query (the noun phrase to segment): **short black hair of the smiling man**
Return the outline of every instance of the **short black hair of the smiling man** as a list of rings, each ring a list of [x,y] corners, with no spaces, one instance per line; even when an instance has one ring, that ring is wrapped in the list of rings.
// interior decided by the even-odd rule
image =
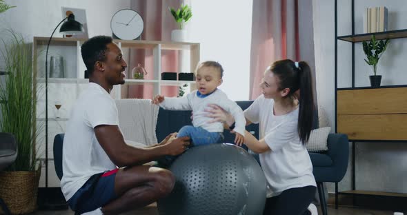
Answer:
[[[106,61],[106,50],[108,50],[108,44],[112,42],[112,37],[96,36],[81,45],[83,63],[89,75],[95,70],[96,61]]]

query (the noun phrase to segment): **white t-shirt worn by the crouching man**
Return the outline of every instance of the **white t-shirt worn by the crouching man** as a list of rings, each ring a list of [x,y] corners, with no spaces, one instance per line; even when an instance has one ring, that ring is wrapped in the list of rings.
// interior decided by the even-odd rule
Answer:
[[[67,200],[90,176],[116,168],[96,139],[97,125],[119,125],[117,107],[106,90],[89,83],[72,107],[63,139],[61,189]]]

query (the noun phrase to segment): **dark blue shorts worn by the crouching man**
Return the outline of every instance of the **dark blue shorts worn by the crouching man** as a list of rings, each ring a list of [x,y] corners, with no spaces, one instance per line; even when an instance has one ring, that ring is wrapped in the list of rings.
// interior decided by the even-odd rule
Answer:
[[[117,198],[115,176],[119,169],[94,174],[68,200],[70,208],[78,214],[91,212]]]

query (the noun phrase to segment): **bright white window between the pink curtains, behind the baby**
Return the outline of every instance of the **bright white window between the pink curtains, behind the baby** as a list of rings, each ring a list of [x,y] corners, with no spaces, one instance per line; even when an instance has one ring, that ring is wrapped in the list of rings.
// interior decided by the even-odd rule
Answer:
[[[189,41],[201,43],[201,61],[218,61],[233,101],[249,99],[252,1],[192,1]],[[230,10],[230,9],[233,10]]]

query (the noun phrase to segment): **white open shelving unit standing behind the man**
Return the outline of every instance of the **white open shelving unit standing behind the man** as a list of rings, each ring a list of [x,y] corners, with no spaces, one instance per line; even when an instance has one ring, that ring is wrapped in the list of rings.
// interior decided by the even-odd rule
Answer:
[[[48,65],[48,101],[45,99],[45,55],[48,44],[48,37],[34,37],[33,39],[33,76],[34,79],[34,94],[37,95],[37,147],[38,158],[45,161],[45,121],[48,121],[48,187],[59,187],[59,179],[54,172],[53,161],[53,140],[54,136],[65,132],[66,122],[70,114],[72,104],[75,102],[79,94],[87,88],[89,79],[84,79],[84,71],[86,66],[81,57],[81,45],[85,39],[75,38],[53,38],[48,51],[48,63],[50,57],[63,57],[63,68],[65,71],[64,78],[55,78],[49,76],[50,65]],[[189,53],[190,72],[195,70],[199,63],[199,43],[176,43],[170,41],[123,41],[114,40],[115,43],[123,50],[126,59],[126,54],[132,49],[152,50],[153,61],[153,78],[152,79],[128,79],[124,85],[115,85],[110,93],[113,99],[126,99],[125,88],[130,85],[152,85],[152,94],[161,94],[161,88],[164,86],[181,86],[188,83],[187,90],[195,90],[195,81],[168,81],[161,80],[161,54],[166,50],[186,50]],[[128,64],[130,63],[126,59]],[[128,68],[128,74],[132,68]],[[176,71],[174,71],[176,72]],[[139,98],[142,99],[142,98]],[[146,98],[150,99],[150,98]],[[56,102],[61,103],[61,109],[57,110]],[[48,104],[48,119],[45,117],[45,105]],[[58,116],[56,114],[58,112]],[[43,168],[45,165],[42,166]],[[45,170],[41,171],[41,179],[39,187],[45,186]]]

